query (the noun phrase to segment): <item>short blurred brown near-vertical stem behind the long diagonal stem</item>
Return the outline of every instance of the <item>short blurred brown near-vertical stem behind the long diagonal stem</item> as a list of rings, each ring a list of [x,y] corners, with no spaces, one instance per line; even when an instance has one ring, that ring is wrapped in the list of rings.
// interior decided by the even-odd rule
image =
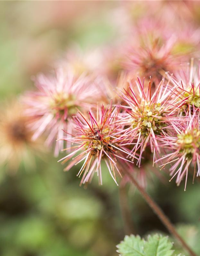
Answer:
[[[119,186],[119,199],[122,219],[124,222],[124,232],[127,235],[135,234],[135,229],[131,218],[131,212],[128,205],[126,186],[124,184],[120,184]]]

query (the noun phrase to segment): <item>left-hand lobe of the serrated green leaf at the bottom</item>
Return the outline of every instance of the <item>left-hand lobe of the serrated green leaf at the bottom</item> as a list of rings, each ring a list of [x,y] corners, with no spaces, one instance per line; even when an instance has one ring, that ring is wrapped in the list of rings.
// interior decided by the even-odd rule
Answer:
[[[145,256],[145,241],[140,236],[125,236],[124,241],[118,244],[118,252],[120,256]]]

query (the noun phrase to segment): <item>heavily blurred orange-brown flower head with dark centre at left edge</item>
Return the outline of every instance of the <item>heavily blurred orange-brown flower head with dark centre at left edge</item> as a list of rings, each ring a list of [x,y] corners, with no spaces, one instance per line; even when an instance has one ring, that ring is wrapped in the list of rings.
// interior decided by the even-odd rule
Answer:
[[[32,141],[32,131],[28,128],[29,118],[24,116],[24,106],[17,101],[1,106],[0,114],[0,164],[16,172],[21,162],[30,168],[34,166],[34,155],[44,152],[41,140]]]

